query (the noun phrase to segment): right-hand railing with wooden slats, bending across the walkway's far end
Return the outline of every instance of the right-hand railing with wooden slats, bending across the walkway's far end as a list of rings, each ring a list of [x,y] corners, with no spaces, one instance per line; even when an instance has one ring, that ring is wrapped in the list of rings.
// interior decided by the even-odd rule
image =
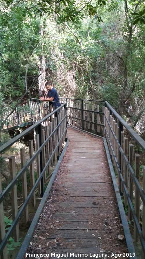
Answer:
[[[145,258],[145,166],[137,152],[145,157],[145,141],[106,101],[67,98],[67,115],[69,125],[106,137],[134,241],[140,240]]]

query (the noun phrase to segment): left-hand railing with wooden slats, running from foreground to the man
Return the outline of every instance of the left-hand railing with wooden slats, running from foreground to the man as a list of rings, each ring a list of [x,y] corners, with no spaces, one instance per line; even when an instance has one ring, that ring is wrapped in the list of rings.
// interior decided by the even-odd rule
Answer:
[[[2,187],[2,181],[0,177],[0,254],[1,258],[3,259],[8,258],[6,245],[7,243],[10,243],[10,237],[13,236],[15,242],[19,240],[19,225],[21,223],[21,217],[23,216],[25,223],[28,221],[28,204],[30,204],[29,201],[31,200],[32,206],[35,207],[36,192],[38,192],[39,195],[43,197],[44,184],[50,180],[50,176],[54,170],[53,167],[57,167],[57,161],[59,161],[61,147],[63,146],[64,141],[67,141],[66,117],[66,104],[64,103],[54,112],[51,112],[43,119],[34,123],[34,125],[30,126],[21,134],[0,147],[0,154],[4,155],[4,152],[7,151],[8,148],[11,147],[14,143],[22,140],[25,135],[30,135],[34,132],[35,151],[33,151],[33,140],[29,140],[29,151],[27,152],[27,159],[25,148],[20,149],[19,165],[21,170],[17,172],[17,174],[15,156],[8,158],[10,167],[10,184],[5,189]],[[28,182],[29,180],[27,179],[27,176],[29,176],[30,183]],[[23,203],[21,206],[19,206],[18,210],[17,182],[19,181],[21,181],[22,185]],[[8,195],[10,198],[8,198]],[[3,210],[3,205],[5,205],[6,199],[9,200],[9,203],[11,202],[10,213],[12,213],[12,215],[10,215],[10,218],[12,217],[12,225],[10,226],[10,229],[7,230],[7,233],[5,230],[4,216],[6,215],[8,217],[9,215],[8,212],[5,211],[4,213]],[[39,214],[40,213],[41,210],[39,209]],[[35,223],[37,224],[37,221]],[[31,227],[31,235],[33,230],[34,226]],[[30,235],[28,236],[27,243],[29,244]]]

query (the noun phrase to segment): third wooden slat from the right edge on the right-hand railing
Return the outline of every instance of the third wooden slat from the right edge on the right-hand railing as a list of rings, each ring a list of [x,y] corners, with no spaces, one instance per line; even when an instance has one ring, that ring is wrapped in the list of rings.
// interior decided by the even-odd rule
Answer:
[[[134,145],[132,144],[129,144],[129,163],[131,165],[131,167],[133,168],[133,162],[134,162]],[[129,172],[129,197],[131,199],[131,202],[133,204],[133,179],[131,177],[131,174]],[[132,220],[133,219],[133,216],[132,216],[132,213],[131,213],[131,209],[130,207],[128,206],[128,219],[129,220]]]

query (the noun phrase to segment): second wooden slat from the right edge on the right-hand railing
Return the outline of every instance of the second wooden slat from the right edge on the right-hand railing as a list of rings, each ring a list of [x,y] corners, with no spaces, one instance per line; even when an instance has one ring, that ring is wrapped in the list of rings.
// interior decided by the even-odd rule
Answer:
[[[137,177],[137,180],[139,181],[140,179],[140,155],[139,154],[135,154],[135,175]],[[137,188],[135,186],[135,214],[137,216],[138,222],[139,222],[139,207],[140,207],[140,194],[139,194],[139,191],[137,191]],[[135,242],[137,242],[139,239],[135,224],[134,224],[134,239],[135,239]]]

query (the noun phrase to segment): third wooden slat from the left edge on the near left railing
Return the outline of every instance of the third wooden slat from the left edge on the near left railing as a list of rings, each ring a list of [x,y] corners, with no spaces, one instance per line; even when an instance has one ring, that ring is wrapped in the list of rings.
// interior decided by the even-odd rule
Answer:
[[[25,153],[25,147],[20,148],[20,158],[21,158],[21,169],[26,164],[26,153]],[[27,175],[26,172],[22,175],[22,194],[23,194],[23,203],[27,199]],[[26,207],[24,211],[24,220],[28,221],[28,206]]]

